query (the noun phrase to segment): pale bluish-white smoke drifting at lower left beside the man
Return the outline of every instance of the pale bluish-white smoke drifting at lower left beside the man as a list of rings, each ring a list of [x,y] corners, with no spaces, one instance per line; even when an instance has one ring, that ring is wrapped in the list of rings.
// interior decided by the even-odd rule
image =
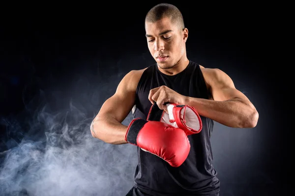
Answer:
[[[0,154],[1,196],[124,196],[131,189],[136,147],[93,138],[89,125],[99,106],[91,101],[99,92],[92,97],[91,87],[83,90],[79,82],[75,88],[79,96],[71,99],[65,91],[40,91],[30,104],[52,99],[40,109],[27,104],[22,116],[2,120],[9,149]],[[129,115],[123,124],[130,121]],[[9,134],[19,135],[20,142]]]

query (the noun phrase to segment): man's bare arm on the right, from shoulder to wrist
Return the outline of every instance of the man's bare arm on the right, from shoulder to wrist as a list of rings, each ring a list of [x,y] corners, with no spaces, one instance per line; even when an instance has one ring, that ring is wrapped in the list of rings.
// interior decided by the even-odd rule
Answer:
[[[250,100],[235,88],[232,79],[219,69],[202,69],[213,100],[185,98],[200,115],[229,127],[255,127],[259,114]]]

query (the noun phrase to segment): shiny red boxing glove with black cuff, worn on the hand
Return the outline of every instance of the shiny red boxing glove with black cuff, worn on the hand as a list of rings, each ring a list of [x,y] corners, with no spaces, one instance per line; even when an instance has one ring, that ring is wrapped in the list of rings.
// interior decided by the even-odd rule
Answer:
[[[125,141],[162,158],[172,167],[179,167],[190,150],[189,140],[182,129],[141,118],[131,121]]]

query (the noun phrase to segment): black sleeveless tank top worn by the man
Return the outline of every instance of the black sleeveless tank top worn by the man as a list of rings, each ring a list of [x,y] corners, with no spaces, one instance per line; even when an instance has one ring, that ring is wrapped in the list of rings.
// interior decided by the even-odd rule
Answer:
[[[133,118],[147,119],[151,103],[149,90],[165,85],[177,93],[208,99],[208,91],[200,66],[189,61],[188,66],[176,75],[166,75],[157,64],[149,66],[142,74],[137,90]],[[185,162],[178,168],[138,147],[138,165],[135,170],[135,187],[152,196],[190,194],[215,194],[219,192],[219,179],[212,166],[210,135],[214,122],[201,116],[203,128],[198,134],[189,135],[191,149]]]

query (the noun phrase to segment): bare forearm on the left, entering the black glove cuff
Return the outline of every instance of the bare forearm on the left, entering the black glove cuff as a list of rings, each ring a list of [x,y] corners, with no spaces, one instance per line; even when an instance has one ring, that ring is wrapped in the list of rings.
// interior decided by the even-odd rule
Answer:
[[[125,134],[128,126],[119,123],[112,117],[104,119],[94,119],[91,123],[91,134],[103,142],[109,144],[126,144]]]

